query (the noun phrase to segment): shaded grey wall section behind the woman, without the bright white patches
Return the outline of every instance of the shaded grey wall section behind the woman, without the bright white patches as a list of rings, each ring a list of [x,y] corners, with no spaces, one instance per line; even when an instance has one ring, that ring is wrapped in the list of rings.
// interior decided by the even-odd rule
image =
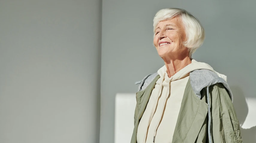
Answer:
[[[256,97],[255,4],[254,0],[103,0],[100,142],[114,142],[116,93],[135,93],[136,81],[164,65],[152,45],[153,17],[169,7],[184,8],[202,22],[206,39],[192,57],[227,76],[243,124],[248,113],[245,98]],[[255,127],[241,130],[245,143],[256,142]]]

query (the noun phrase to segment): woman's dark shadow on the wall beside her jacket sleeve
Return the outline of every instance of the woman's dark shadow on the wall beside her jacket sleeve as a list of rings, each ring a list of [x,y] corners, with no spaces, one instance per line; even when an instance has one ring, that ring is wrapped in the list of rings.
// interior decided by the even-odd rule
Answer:
[[[251,127],[249,129],[243,129],[241,127],[244,124],[249,111],[248,105],[246,103],[246,98],[243,95],[243,91],[238,86],[230,86],[230,89],[234,96],[233,104],[240,124],[240,131],[243,143],[256,142],[256,126]]]

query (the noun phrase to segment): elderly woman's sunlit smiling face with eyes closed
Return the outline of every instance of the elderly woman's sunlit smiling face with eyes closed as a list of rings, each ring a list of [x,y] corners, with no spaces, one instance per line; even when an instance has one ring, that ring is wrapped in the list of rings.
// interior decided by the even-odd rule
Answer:
[[[186,33],[182,21],[175,17],[157,24],[153,42],[159,56],[163,58],[179,55],[187,50],[182,44],[185,39]]]

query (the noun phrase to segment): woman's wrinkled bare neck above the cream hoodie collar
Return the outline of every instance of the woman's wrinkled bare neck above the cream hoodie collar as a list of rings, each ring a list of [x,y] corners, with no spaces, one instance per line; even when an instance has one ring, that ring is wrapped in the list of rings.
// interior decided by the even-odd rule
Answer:
[[[183,69],[185,66],[189,65],[191,62],[191,59],[189,56],[186,56],[184,58],[163,58],[165,66],[167,68],[167,74],[168,77],[173,76],[175,73]]]

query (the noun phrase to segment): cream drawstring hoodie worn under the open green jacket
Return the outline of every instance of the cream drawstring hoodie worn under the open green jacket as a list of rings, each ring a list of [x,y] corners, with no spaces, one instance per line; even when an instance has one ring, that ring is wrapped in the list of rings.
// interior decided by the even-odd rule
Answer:
[[[160,68],[157,73],[160,78],[152,90],[146,109],[140,120],[137,130],[137,143],[171,143],[178,114],[181,107],[184,90],[188,82],[189,73],[197,69],[213,68],[207,63],[192,63],[168,77],[166,66]],[[227,79],[223,74],[219,77]]]

